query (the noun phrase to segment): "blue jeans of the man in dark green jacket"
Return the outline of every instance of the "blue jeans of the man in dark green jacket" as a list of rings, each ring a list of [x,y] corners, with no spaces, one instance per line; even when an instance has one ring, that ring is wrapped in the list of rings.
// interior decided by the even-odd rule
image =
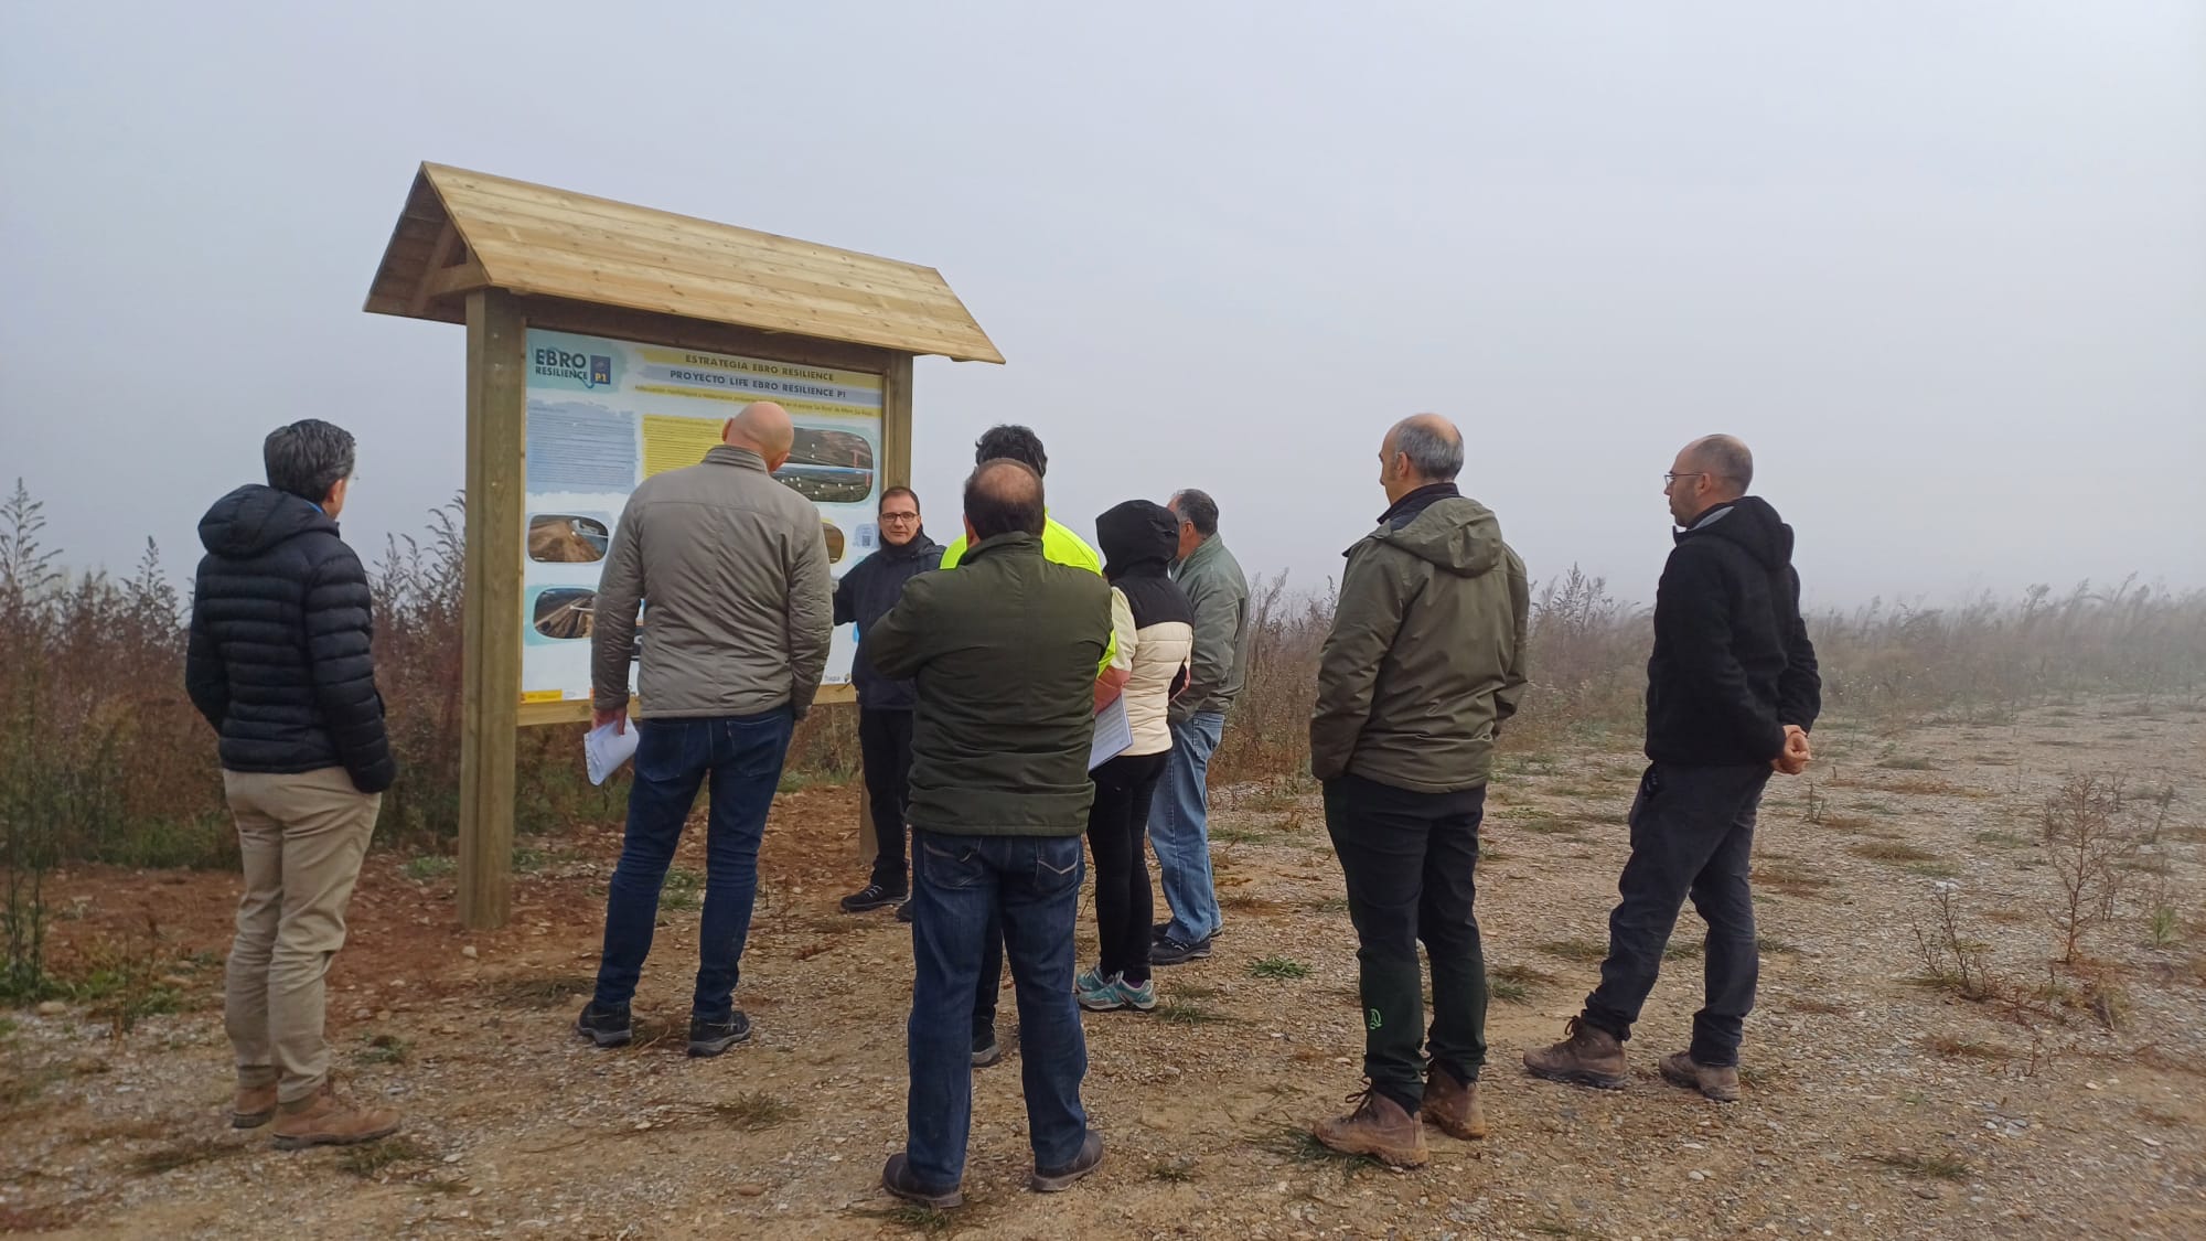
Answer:
[[[973,1128],[973,989],[1002,923],[1019,996],[1019,1071],[1037,1168],[1063,1168],[1088,1139],[1088,1040],[1072,1000],[1081,837],[911,832],[911,1095],[904,1157],[927,1188],[964,1181]]]

